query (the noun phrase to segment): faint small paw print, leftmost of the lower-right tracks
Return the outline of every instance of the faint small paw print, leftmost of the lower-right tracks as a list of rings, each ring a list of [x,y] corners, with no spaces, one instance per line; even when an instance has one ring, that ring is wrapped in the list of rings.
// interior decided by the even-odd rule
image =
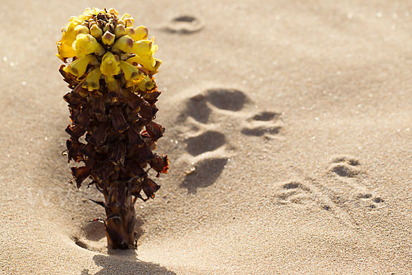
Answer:
[[[290,181],[280,186],[277,195],[280,204],[304,203],[310,201],[312,190],[299,181]]]

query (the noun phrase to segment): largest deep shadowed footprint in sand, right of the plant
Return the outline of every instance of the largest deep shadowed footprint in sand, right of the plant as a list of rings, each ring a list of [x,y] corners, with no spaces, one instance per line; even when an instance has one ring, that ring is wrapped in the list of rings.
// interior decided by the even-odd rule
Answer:
[[[225,123],[233,125],[233,131],[247,136],[279,133],[280,113],[263,111],[250,117],[242,109],[251,103],[244,92],[225,88],[206,89],[185,101],[176,122],[186,130],[185,150],[192,157],[193,167],[181,187],[196,192],[197,188],[211,186],[218,179],[233,153],[228,148],[234,148],[223,133]]]

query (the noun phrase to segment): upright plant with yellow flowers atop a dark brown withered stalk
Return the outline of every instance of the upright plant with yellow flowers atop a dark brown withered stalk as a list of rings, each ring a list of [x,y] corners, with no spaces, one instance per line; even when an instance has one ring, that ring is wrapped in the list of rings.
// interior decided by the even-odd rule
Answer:
[[[133,17],[115,9],[87,8],[71,17],[57,42],[60,74],[71,92],[71,124],[66,132],[67,156],[79,166],[71,173],[80,188],[84,179],[104,195],[95,201],[106,211],[108,245],[135,248],[135,202],[155,197],[159,185],[148,177],[153,169],[168,173],[167,155],[153,153],[165,128],[153,122],[158,111],[153,75],[161,61],[153,57],[155,39]],[[82,164],[80,164],[82,163]],[[144,192],[146,198],[141,195]]]

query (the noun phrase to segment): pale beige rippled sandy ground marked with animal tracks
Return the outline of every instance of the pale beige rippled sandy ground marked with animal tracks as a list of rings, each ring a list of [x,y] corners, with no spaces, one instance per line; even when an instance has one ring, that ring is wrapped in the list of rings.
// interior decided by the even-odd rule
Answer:
[[[411,1],[48,2],[1,5],[1,274],[412,273]],[[60,155],[55,43],[93,5],[163,60],[171,170],[135,252],[107,250]]]

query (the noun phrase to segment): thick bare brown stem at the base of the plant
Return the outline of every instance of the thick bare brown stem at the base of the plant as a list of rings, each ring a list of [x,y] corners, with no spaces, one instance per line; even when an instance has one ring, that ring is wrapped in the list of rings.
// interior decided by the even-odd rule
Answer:
[[[104,192],[107,243],[113,249],[135,248],[135,203],[124,183],[113,182]]]

